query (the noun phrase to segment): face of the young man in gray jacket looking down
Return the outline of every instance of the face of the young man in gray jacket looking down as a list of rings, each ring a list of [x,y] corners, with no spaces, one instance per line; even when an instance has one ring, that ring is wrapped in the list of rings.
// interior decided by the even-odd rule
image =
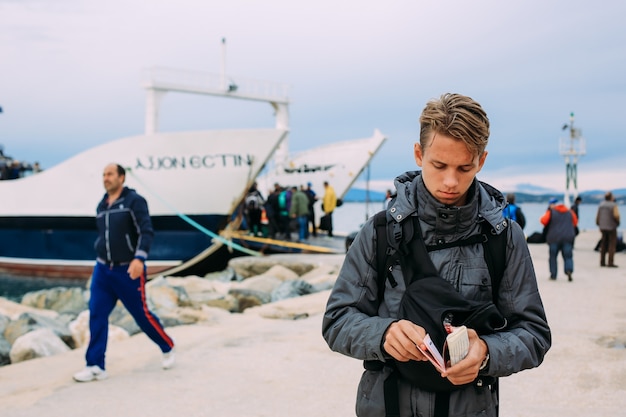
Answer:
[[[472,155],[460,140],[431,133],[429,145],[414,146],[415,162],[422,168],[422,178],[428,191],[442,204],[462,206],[467,201],[467,190],[480,172],[487,152]]]

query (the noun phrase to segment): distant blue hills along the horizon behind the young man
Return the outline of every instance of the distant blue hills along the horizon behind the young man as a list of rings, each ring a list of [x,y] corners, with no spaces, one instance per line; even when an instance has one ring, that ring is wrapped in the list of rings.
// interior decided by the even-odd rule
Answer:
[[[618,204],[626,204],[626,188],[620,188],[618,190],[612,190],[613,195],[615,196],[615,200]],[[604,200],[604,194],[606,191],[604,190],[592,190],[592,191],[583,191],[580,193],[580,197],[583,199],[584,204],[599,204]],[[503,191],[503,194],[506,195],[507,192]],[[515,202],[516,203],[548,203],[551,198],[558,198],[563,201],[563,193],[545,193],[545,194],[535,194],[535,193],[522,193],[515,192]],[[385,193],[380,191],[373,190],[365,190],[362,188],[351,188],[348,190],[346,195],[343,198],[345,202],[358,202],[362,203],[365,201],[384,201]]]

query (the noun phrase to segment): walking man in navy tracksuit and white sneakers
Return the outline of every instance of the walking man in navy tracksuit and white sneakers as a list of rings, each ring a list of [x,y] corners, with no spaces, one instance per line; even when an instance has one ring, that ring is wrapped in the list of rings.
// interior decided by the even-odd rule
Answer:
[[[109,315],[118,300],[163,352],[163,368],[174,364],[174,342],[146,303],[145,261],[154,237],[148,204],[135,190],[124,186],[125,179],[122,166],[109,164],[104,168],[106,194],[97,208],[97,261],[89,300],[91,339],[85,355],[87,366],[74,374],[78,382],[107,377],[104,357]]]

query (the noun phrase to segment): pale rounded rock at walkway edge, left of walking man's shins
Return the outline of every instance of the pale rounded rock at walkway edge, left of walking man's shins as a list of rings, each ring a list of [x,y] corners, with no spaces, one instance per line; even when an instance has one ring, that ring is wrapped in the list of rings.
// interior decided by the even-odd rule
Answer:
[[[35,329],[18,337],[11,346],[11,363],[67,352],[69,347],[47,328]]]

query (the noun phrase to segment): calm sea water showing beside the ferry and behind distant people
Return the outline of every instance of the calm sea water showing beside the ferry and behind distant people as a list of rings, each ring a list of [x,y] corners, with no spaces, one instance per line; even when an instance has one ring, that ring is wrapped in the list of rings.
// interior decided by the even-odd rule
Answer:
[[[542,226],[539,218],[545,213],[546,204],[528,203],[520,205],[526,216],[526,235],[531,235],[535,231],[541,231]],[[359,230],[361,225],[378,211],[383,209],[382,201],[370,203],[344,203],[333,213],[333,222],[336,232],[350,233]],[[597,205],[583,204],[580,206],[581,231],[598,230],[595,225]],[[622,218],[625,213],[620,207]],[[316,213],[319,220],[319,213]],[[621,230],[620,230],[621,231]],[[20,301],[22,296],[30,291],[38,291],[53,287],[84,287],[85,283],[76,280],[45,279],[45,278],[22,278],[10,277],[0,274],[0,297],[5,297],[13,301]]]

